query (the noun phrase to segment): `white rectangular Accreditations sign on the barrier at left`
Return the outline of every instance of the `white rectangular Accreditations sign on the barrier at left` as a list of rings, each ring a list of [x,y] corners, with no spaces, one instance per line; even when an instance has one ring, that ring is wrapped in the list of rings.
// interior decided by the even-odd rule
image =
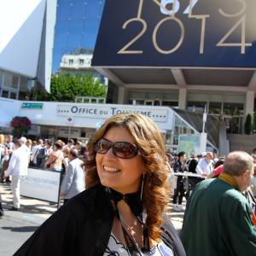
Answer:
[[[27,176],[20,180],[20,195],[58,202],[60,172],[28,168]]]

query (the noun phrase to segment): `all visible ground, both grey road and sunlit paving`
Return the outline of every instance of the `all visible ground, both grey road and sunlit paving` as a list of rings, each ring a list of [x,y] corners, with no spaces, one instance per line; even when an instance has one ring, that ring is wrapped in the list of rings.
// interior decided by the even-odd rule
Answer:
[[[12,212],[8,210],[13,201],[9,184],[0,183],[0,193],[4,208],[4,216],[0,219],[0,255],[9,256],[13,255],[23,242],[38,229],[38,226],[57,210],[57,205],[49,205],[48,201],[21,196],[20,211]],[[172,204],[168,205],[167,215],[172,219],[177,231],[182,228],[183,213],[184,211],[174,212]]]

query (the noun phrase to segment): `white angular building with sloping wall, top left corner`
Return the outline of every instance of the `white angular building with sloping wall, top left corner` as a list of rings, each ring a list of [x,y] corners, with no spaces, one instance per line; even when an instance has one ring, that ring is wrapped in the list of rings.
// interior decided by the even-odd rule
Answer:
[[[55,12],[55,0],[0,3],[0,96],[30,100],[49,90]]]

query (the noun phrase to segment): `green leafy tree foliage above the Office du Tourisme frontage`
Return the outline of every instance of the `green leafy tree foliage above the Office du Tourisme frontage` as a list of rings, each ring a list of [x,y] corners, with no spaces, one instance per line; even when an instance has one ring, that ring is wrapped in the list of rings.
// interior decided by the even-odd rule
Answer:
[[[61,73],[53,75],[50,83],[50,93],[38,93],[38,100],[49,102],[74,102],[76,96],[105,97],[107,86],[102,85],[100,79],[90,74],[70,75]]]

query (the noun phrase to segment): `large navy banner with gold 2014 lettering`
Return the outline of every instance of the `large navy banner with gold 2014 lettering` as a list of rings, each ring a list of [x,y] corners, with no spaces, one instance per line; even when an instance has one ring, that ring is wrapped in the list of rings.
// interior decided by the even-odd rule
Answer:
[[[106,0],[101,67],[256,67],[255,0]]]

